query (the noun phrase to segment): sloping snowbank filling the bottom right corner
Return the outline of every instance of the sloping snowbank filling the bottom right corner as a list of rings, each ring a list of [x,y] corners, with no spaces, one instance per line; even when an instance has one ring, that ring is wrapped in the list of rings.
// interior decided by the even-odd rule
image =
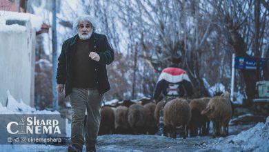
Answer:
[[[238,135],[219,138],[201,151],[269,151],[269,117]]]

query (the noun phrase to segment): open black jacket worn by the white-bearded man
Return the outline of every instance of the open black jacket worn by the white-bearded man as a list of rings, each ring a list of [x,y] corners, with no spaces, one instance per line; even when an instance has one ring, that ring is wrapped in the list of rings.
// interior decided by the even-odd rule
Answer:
[[[57,84],[65,84],[65,97],[70,95],[72,91],[72,75],[74,73],[72,61],[77,48],[78,39],[79,36],[75,35],[64,41],[61,48],[61,55],[58,58],[56,79]],[[100,94],[106,93],[110,90],[106,65],[112,63],[114,60],[114,52],[108,44],[108,39],[105,35],[92,32],[90,38],[90,52],[96,52],[100,56],[99,61],[94,61],[94,82],[96,82]]]

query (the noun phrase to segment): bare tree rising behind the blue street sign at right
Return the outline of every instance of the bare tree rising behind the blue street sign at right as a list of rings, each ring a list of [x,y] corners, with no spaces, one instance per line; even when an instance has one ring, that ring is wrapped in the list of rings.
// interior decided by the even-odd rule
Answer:
[[[225,35],[235,54],[241,57],[261,57],[268,10],[264,9],[261,12],[261,4],[257,1],[253,3],[253,1],[208,0],[208,2],[215,12],[215,15],[212,15],[213,21],[221,28],[222,34]],[[253,15],[253,12],[255,15]],[[260,17],[261,21],[259,20]],[[263,24],[261,25],[261,23]],[[246,84],[248,98],[254,98],[255,91],[253,89],[259,77],[257,77],[255,71],[251,70],[241,70],[241,75]]]

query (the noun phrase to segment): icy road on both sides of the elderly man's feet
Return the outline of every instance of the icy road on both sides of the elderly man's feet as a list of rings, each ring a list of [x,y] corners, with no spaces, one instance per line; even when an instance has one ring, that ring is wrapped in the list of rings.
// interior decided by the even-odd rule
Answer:
[[[159,135],[101,135],[97,138],[98,152],[155,152],[155,151],[195,151],[203,146],[203,141],[212,137],[195,137],[172,139]],[[0,145],[1,151],[66,151],[68,146],[51,146],[44,144]],[[83,151],[86,151],[85,146]]]

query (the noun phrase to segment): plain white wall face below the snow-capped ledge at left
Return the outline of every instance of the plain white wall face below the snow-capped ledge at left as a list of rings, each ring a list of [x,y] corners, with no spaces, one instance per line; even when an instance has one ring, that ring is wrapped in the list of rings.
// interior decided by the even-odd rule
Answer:
[[[0,31],[0,102],[6,106],[7,91],[34,106],[35,31],[30,22],[26,30]]]

